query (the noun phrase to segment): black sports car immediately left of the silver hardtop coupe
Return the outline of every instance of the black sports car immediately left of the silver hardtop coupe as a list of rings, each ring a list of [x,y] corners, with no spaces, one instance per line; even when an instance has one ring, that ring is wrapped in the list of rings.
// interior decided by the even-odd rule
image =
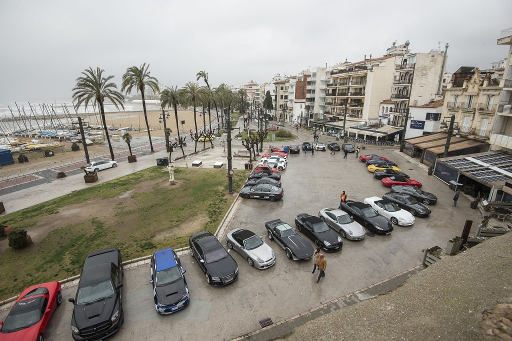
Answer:
[[[304,235],[314,241],[318,248],[333,252],[341,250],[343,247],[342,237],[339,237],[336,232],[329,228],[325,221],[316,216],[301,213],[295,218],[295,226],[297,226],[299,232],[304,233]]]

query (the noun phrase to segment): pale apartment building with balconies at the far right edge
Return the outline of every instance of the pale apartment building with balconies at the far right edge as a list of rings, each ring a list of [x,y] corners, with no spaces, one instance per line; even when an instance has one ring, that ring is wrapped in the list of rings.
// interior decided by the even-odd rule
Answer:
[[[512,28],[503,30],[498,38],[498,45],[508,45],[508,55],[500,81],[501,95],[487,109],[495,109],[496,117],[492,125],[489,142],[492,150],[512,151]],[[496,96],[496,95],[495,95]],[[494,112],[493,112],[494,113]]]

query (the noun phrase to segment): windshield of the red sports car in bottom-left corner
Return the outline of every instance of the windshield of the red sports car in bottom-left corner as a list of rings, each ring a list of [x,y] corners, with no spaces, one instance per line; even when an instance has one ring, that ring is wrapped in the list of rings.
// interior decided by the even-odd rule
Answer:
[[[5,319],[2,333],[10,333],[35,325],[42,317],[41,300],[45,297],[35,297],[32,300],[23,300],[12,308]]]

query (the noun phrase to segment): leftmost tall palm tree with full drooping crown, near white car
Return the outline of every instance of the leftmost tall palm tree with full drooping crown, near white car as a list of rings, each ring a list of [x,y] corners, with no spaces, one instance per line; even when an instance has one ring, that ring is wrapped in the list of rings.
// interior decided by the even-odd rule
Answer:
[[[103,77],[104,70],[96,68],[86,69],[82,72],[81,77],[76,79],[76,86],[73,88],[73,102],[75,103],[75,110],[78,110],[80,105],[84,103],[85,108],[91,103],[94,107],[99,106],[101,113],[101,120],[103,122],[103,129],[105,130],[106,140],[109,142],[110,156],[114,160],[114,151],[112,150],[112,143],[110,142],[109,130],[106,127],[105,119],[105,98],[110,100],[119,110],[119,106],[124,110],[124,96],[117,91],[117,86],[113,82],[109,82],[114,76]]]

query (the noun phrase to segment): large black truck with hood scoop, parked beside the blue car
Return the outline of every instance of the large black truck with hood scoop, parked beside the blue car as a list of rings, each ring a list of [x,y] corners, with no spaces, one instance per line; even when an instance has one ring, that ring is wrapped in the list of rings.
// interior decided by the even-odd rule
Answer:
[[[121,304],[121,252],[117,248],[89,253],[83,263],[73,303],[71,332],[75,340],[100,340],[116,333],[124,322]]]

